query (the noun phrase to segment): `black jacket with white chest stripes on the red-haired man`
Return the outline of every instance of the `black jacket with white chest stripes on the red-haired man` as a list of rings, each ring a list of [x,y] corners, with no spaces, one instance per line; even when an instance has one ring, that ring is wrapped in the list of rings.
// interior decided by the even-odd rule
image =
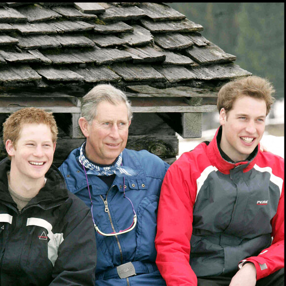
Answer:
[[[0,162],[0,286],[94,286],[96,242],[90,210],[53,165],[21,212]]]

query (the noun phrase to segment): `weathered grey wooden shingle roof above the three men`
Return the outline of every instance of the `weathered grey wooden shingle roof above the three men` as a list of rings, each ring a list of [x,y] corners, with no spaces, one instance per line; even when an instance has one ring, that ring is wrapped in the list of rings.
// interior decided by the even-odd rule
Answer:
[[[171,87],[249,74],[201,31],[163,3],[2,3],[0,86],[84,86],[111,79],[125,87],[133,81]],[[93,81],[85,69],[93,71]]]

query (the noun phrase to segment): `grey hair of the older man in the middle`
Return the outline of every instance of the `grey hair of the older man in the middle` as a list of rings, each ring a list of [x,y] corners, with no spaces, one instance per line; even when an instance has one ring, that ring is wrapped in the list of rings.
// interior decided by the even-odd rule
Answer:
[[[127,96],[119,89],[115,88],[111,84],[99,84],[91,89],[83,98],[80,107],[80,116],[84,117],[89,124],[97,115],[97,107],[103,102],[116,105],[119,103],[125,103],[128,111],[128,121],[132,119],[131,103],[127,99]]]

